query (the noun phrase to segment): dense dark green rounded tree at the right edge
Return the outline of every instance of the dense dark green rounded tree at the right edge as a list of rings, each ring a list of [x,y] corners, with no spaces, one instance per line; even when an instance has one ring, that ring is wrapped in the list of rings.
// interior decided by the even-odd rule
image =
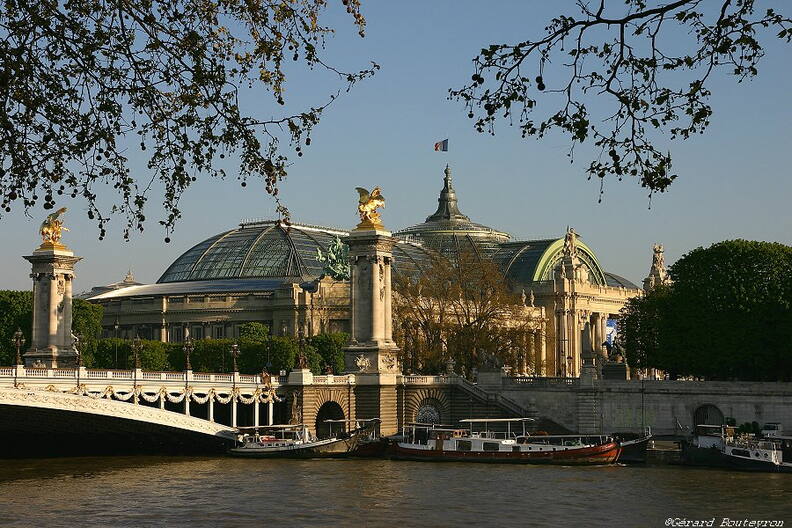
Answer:
[[[683,256],[674,283],[633,300],[627,360],[672,376],[792,379],[792,247],[731,240]]]

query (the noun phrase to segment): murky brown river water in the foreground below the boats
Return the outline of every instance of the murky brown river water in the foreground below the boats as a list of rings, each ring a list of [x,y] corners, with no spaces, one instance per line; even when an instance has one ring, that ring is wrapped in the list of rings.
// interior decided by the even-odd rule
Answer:
[[[653,527],[713,518],[714,526],[729,525],[724,518],[792,526],[792,474],[224,457],[0,461],[0,526]]]

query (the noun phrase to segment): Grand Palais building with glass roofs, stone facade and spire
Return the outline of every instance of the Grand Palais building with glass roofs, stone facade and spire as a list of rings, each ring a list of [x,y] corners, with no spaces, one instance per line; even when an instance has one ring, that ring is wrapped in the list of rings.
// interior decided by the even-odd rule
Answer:
[[[124,281],[94,288],[104,306],[104,336],[183,341],[236,338],[256,321],[275,335],[348,331],[349,281],[318,279],[327,254],[348,233],[277,220],[242,223],[190,248],[154,284]],[[432,254],[453,259],[474,251],[493,260],[539,321],[531,374],[578,376],[581,351],[611,338],[625,302],[642,290],[602,269],[573,230],[556,238],[513,240],[462,214],[445,170],[437,210],[422,223],[394,232],[395,272],[420,273]],[[396,323],[398,324],[398,323]]]

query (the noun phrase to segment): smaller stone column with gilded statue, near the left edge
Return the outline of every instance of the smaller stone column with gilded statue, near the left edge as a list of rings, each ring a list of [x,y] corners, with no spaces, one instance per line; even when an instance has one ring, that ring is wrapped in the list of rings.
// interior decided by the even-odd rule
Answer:
[[[70,368],[77,366],[72,336],[72,281],[74,265],[81,260],[61,243],[61,216],[66,208],[50,214],[41,224],[41,246],[25,260],[32,264],[33,332],[25,353],[26,367]]]

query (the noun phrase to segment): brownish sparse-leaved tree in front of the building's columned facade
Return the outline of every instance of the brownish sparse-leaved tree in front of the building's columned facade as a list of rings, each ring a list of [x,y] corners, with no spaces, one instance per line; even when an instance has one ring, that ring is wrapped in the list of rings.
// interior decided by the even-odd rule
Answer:
[[[444,372],[449,360],[463,375],[493,362],[516,366],[537,331],[497,265],[473,252],[453,263],[435,257],[419,276],[396,275],[394,288],[394,330],[407,371]]]

